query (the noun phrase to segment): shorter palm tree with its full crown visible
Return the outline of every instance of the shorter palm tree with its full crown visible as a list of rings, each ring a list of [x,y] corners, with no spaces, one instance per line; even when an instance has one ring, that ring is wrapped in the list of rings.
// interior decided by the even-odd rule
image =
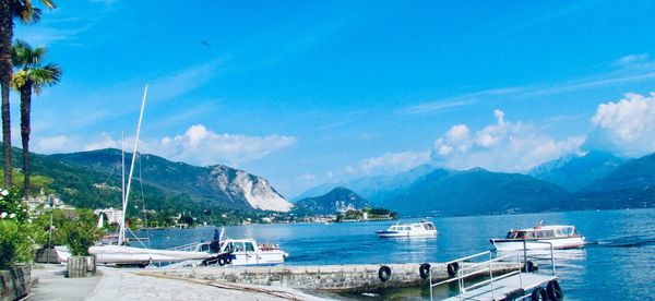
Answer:
[[[24,40],[16,40],[11,47],[11,60],[16,72],[11,85],[21,94],[21,140],[23,142],[23,196],[29,198],[29,115],[32,92],[40,94],[45,86],[51,86],[61,80],[61,69],[53,63],[41,64],[46,55],[45,47],[32,48]]]

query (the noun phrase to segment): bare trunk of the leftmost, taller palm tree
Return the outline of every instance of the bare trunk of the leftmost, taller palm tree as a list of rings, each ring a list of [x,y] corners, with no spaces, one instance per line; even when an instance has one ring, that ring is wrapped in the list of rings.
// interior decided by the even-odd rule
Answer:
[[[2,85],[2,145],[4,150],[4,188],[11,188],[11,122],[9,83],[11,81],[11,39],[13,36],[12,0],[0,0],[0,84]]]

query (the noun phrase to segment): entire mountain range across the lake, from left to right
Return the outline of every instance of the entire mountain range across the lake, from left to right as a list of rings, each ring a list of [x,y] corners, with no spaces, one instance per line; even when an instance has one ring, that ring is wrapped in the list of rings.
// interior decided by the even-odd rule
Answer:
[[[14,152],[14,166],[20,166],[20,149]],[[147,154],[138,158],[131,188],[131,204],[136,207],[130,210],[333,214],[379,206],[419,216],[655,206],[655,154],[623,159],[592,152],[546,162],[528,174],[419,166],[395,176],[317,186],[296,198],[296,208],[266,179],[243,170],[198,167]],[[126,154],[126,162],[130,159]],[[71,205],[120,207],[120,161],[118,149],[33,154],[32,172],[51,178],[50,189]]]

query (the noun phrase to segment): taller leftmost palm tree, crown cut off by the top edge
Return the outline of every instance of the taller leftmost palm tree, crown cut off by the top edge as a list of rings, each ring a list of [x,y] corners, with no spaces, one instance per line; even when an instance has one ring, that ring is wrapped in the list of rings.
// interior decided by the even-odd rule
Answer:
[[[48,8],[57,5],[52,0],[39,0]],[[9,111],[9,87],[12,77],[11,40],[13,21],[34,24],[40,20],[41,10],[32,5],[32,0],[0,0],[0,84],[2,85],[2,144],[4,150],[4,188],[11,186],[11,121]]]

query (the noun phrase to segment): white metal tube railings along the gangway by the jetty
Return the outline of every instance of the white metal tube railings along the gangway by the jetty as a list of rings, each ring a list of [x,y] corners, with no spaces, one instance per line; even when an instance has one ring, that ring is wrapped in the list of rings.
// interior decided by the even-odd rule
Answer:
[[[440,285],[444,285],[444,284],[449,284],[449,282],[453,282],[453,281],[457,281],[457,287],[458,287],[458,290],[460,290],[460,293],[458,293],[460,300],[463,299],[463,293],[465,293],[466,291],[468,291],[471,289],[478,288],[478,287],[483,287],[483,286],[486,286],[486,285],[490,286],[491,298],[496,299],[493,282],[498,281],[498,280],[501,280],[501,279],[504,279],[504,278],[508,278],[508,277],[512,277],[514,275],[519,275],[520,285],[521,285],[521,287],[523,287],[523,276],[522,276],[522,273],[524,270],[528,272],[527,270],[527,262],[528,262],[528,260],[539,260],[539,261],[544,260],[543,257],[528,256],[528,254],[527,254],[527,243],[544,243],[544,244],[548,244],[550,246],[549,248],[550,249],[549,250],[550,251],[550,258],[549,258],[549,261],[550,261],[550,266],[551,266],[551,273],[552,273],[552,275],[555,275],[556,274],[556,269],[555,269],[555,249],[552,246],[552,243],[551,242],[547,242],[547,241],[523,241],[523,256],[521,256],[521,254],[517,253],[517,254],[508,254],[508,255],[504,255],[504,256],[500,256],[500,257],[493,258],[493,253],[491,251],[486,251],[486,252],[473,254],[473,255],[469,255],[469,256],[456,258],[454,261],[445,262],[444,264],[446,265],[446,267],[450,264],[457,264],[457,266],[458,266],[457,274],[455,276],[451,276],[452,278],[449,278],[449,279],[445,279],[445,280],[442,280],[442,281],[439,281],[439,282],[436,282],[436,284],[432,284],[432,268],[433,267],[430,267],[430,269],[429,269],[429,276],[428,276],[429,277],[429,285],[430,285],[430,300],[433,300],[432,290],[433,290],[434,287],[440,286]],[[471,260],[483,257],[483,256],[486,256],[486,255],[489,256],[488,260],[483,261],[483,262],[471,263],[471,265],[464,266],[465,262],[469,262]],[[513,258],[513,257],[516,258],[516,269],[512,270],[510,273],[507,273],[504,275],[495,277],[493,276],[493,267],[492,267],[493,264],[497,264],[497,263],[503,262],[503,261],[507,262],[508,260]],[[525,269],[524,269],[524,267],[525,267]],[[468,278],[468,277],[474,276],[474,275],[483,274],[483,273],[486,273],[486,272],[489,273],[488,274],[489,279],[486,279],[486,280],[478,281],[478,282],[475,282],[473,285],[466,286],[465,278]]]

